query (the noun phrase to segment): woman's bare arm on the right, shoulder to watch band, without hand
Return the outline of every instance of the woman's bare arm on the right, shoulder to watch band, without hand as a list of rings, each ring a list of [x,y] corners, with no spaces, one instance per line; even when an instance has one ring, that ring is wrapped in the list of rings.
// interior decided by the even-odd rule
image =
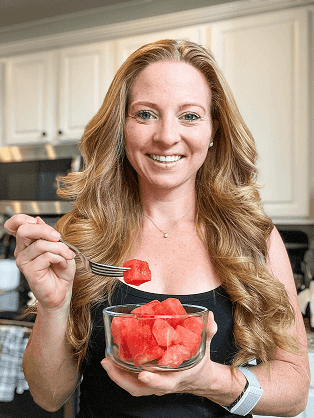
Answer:
[[[267,411],[268,415],[275,413],[295,416],[306,408],[311,380],[307,337],[289,257],[276,228],[270,236],[267,264],[270,273],[285,285],[288,292],[295,312],[295,324],[289,332],[298,340],[302,353],[291,354],[277,349],[270,365],[270,376],[262,366],[254,368],[264,394],[253,412],[266,415],[265,411]],[[271,411],[268,403],[274,412]]]

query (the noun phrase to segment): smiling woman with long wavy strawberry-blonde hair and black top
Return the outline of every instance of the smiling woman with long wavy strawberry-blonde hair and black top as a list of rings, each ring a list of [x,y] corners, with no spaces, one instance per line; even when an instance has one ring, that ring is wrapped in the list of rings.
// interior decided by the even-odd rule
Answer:
[[[60,190],[76,203],[57,229],[94,261],[147,261],[152,280],[135,289],[83,269],[74,279],[60,234],[26,215],[7,221],[38,300],[23,360],[34,399],[57,410],[82,373],[79,417],[304,410],[307,343],[289,260],[261,208],[254,141],[213,57],[190,42],[140,48],[80,149],[85,168]],[[213,312],[197,366],[134,376],[103,358],[104,306],[169,295]]]

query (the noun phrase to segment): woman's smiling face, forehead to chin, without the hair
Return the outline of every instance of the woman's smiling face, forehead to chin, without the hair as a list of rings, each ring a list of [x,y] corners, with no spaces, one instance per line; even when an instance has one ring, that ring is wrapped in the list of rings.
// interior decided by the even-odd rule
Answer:
[[[131,92],[126,154],[141,187],[194,188],[210,144],[211,93],[205,76],[178,61],[150,64]]]

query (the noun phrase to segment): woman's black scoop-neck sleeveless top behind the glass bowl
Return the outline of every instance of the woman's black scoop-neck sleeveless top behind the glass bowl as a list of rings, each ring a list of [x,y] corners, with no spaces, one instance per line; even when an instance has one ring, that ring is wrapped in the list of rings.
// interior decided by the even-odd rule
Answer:
[[[233,307],[222,287],[191,295],[166,295],[143,292],[122,283],[113,292],[111,305],[148,303],[175,297],[182,304],[201,305],[213,311],[218,325],[211,342],[211,359],[230,364],[237,348],[233,337]],[[216,418],[239,417],[229,413],[207,398],[189,393],[163,396],[134,397],[114,383],[100,362],[105,357],[105,332],[102,310],[105,304],[92,312],[93,331],[87,358],[83,362],[80,412],[77,418]],[[247,415],[247,418],[251,415]]]

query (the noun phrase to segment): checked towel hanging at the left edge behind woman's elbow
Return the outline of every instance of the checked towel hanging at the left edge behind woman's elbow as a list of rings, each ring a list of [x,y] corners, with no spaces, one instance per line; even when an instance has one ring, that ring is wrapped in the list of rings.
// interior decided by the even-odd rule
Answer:
[[[22,357],[28,338],[22,327],[0,327],[0,402],[11,402],[28,389],[22,370]]]

